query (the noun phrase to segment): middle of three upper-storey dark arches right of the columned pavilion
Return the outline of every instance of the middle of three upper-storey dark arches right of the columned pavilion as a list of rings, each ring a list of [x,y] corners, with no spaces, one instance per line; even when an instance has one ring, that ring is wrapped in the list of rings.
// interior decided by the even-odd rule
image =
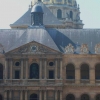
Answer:
[[[89,79],[89,66],[87,64],[81,65],[81,79]]]

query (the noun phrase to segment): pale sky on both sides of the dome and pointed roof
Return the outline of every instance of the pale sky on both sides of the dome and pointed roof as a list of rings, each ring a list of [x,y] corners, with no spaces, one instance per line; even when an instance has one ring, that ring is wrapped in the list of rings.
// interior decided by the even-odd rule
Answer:
[[[8,29],[29,8],[31,0],[0,0],[0,29]],[[77,0],[84,28],[100,28],[100,0]]]

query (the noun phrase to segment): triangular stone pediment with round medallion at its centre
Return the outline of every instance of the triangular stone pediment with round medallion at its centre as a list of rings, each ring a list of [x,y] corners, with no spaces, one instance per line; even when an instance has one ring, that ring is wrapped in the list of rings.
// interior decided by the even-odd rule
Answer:
[[[9,52],[10,54],[58,54],[60,52],[53,50],[42,44],[31,42]]]

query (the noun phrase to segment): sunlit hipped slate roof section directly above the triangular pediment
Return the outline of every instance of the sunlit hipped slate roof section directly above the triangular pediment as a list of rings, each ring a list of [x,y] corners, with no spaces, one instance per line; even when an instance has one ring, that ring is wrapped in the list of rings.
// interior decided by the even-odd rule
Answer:
[[[24,33],[22,34],[21,37],[19,37],[17,42],[14,45],[12,45],[12,47],[10,49],[8,49],[6,52],[13,50],[15,48],[18,48],[27,43],[30,43],[32,41],[38,42],[38,43],[45,45],[51,49],[59,51],[55,42],[50,37],[48,32],[45,30],[45,28],[33,28],[33,29],[27,29],[26,31],[24,31]]]

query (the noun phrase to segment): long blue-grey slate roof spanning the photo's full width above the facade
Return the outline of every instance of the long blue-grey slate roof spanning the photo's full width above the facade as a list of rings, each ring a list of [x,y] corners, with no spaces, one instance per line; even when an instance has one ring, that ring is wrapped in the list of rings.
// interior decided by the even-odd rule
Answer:
[[[51,49],[64,52],[71,43],[75,54],[80,53],[81,44],[88,44],[89,53],[95,53],[95,45],[100,43],[100,29],[45,29],[33,27],[25,30],[0,30],[0,44],[6,52],[35,41]]]

